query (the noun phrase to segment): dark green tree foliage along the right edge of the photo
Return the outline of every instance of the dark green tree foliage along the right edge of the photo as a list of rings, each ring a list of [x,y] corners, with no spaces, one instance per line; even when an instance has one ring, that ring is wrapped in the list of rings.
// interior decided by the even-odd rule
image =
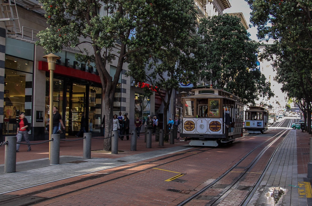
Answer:
[[[251,23],[257,26],[260,40],[274,40],[261,58],[271,60],[276,80],[290,98],[312,101],[312,1],[246,0],[252,9]],[[275,58],[274,58],[275,57]],[[311,107],[302,107],[311,124]],[[309,133],[311,128],[308,127]]]

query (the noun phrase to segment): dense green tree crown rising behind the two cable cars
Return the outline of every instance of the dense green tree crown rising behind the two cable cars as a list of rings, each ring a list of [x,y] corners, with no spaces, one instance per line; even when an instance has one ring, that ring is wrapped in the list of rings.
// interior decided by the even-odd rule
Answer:
[[[196,53],[202,60],[201,77],[214,88],[251,105],[259,97],[274,95],[270,83],[256,69],[259,44],[249,38],[239,18],[225,14],[201,19],[198,34],[202,36]]]

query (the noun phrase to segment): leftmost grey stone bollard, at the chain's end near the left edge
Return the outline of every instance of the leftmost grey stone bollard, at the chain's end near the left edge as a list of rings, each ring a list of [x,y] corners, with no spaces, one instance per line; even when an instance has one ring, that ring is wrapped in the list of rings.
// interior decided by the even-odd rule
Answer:
[[[4,172],[16,172],[16,136],[5,137]]]

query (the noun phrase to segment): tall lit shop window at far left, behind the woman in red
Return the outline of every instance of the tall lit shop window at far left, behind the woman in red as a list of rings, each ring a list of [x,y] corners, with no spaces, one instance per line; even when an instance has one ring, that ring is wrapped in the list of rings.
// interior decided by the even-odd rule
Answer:
[[[3,134],[16,134],[20,112],[32,123],[32,69],[32,61],[5,56]]]

